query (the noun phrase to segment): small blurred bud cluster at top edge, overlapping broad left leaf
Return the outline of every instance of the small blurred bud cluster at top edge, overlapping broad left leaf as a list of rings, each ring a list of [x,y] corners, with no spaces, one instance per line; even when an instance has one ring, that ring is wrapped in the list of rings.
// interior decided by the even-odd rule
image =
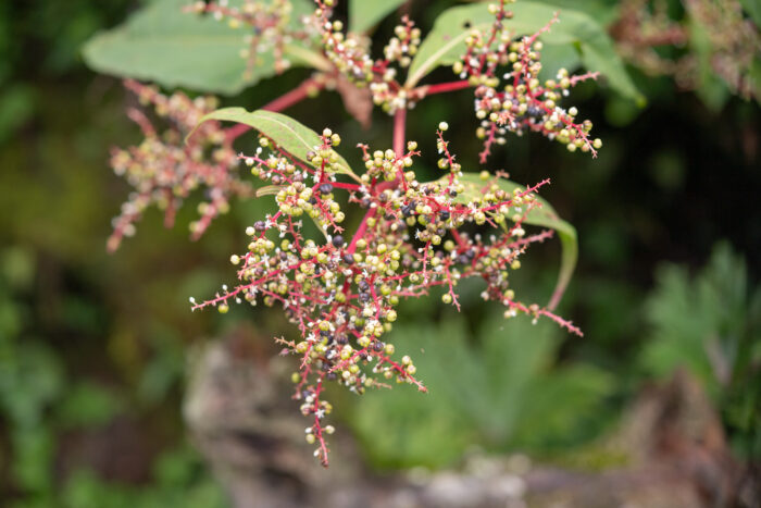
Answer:
[[[214,20],[226,22],[233,29],[246,30],[245,46],[240,49],[240,58],[246,59],[246,79],[252,77],[264,53],[273,55],[277,73],[288,70],[291,62],[285,57],[285,46],[309,38],[307,32],[292,27],[294,5],[289,0],[244,0],[240,7],[229,5],[228,0],[209,3],[199,0],[188,10],[199,14],[210,13]]]

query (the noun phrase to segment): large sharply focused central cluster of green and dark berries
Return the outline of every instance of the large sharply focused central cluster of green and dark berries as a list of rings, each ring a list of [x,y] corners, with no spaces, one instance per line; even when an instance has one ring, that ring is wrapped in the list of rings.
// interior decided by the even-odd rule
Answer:
[[[223,286],[210,300],[192,309],[215,307],[227,312],[230,303],[282,306],[298,327],[300,339],[277,342],[284,352],[299,357],[292,375],[295,398],[311,419],[307,441],[315,444],[315,456],[327,464],[325,435],[333,432],[325,418],[330,405],[324,399],[328,383],[362,394],[369,387],[388,387],[388,382],[409,383],[420,391],[413,360],[395,359],[387,334],[397,320],[401,299],[419,298],[441,288],[441,300],[460,303],[459,282],[477,277],[485,282],[484,299],[500,302],[506,317],[527,313],[547,315],[573,333],[572,323],[538,305],[526,306],[510,287],[510,271],[535,241],[552,235],[527,235],[523,221],[540,206],[536,190],[548,181],[507,191],[499,176],[484,172],[474,184],[463,176],[444,138],[441,123],[437,147],[439,166],[446,171],[435,182],[419,182],[411,170],[417,145],[404,149],[375,150],[361,146],[366,172],[353,182],[339,182],[334,148],[340,137],[329,129],[321,136],[304,163],[260,137],[252,154],[239,158],[251,173],[270,184],[279,209],[249,226],[248,249],[230,258],[239,284]],[[351,239],[339,223],[342,212],[334,191],[348,193],[349,205],[365,210]],[[315,221],[323,236],[308,238],[302,215]]]

